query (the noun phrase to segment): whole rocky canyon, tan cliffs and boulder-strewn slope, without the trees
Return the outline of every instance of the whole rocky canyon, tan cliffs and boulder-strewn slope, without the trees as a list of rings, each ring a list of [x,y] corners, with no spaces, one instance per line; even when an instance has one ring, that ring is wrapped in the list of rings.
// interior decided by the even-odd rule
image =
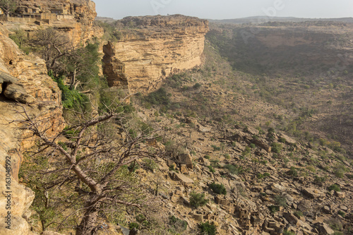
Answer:
[[[341,225],[342,231],[352,229],[353,162],[347,159],[352,152],[343,152],[329,141],[294,140],[287,128],[299,118],[309,120],[311,130],[323,138],[352,130],[353,34],[348,23],[248,27],[209,25],[208,20],[181,15],[140,16],[113,20],[119,36],[104,40],[103,28],[93,23],[97,14],[92,1],[20,0],[16,14],[0,19],[0,191],[7,195],[11,189],[11,230],[1,222],[0,235],[57,235],[42,231],[39,221],[28,223],[31,213],[37,215],[30,209],[35,193],[34,188],[18,183],[28,180],[18,179],[18,172],[25,164],[25,150],[37,144],[21,123],[35,119],[49,136],[60,133],[65,127],[62,94],[59,84],[47,75],[44,60],[23,53],[8,38],[16,30],[32,37],[49,27],[66,32],[76,46],[97,42],[101,75],[110,87],[100,87],[99,92],[140,93],[131,98],[136,114],[129,121],[160,131],[150,143],[141,143],[161,151],[155,164],[148,159],[150,164],[144,165],[145,159],[138,159],[142,167],[133,172],[133,164],[128,169],[155,194],[159,206],[142,220],[139,213],[143,212],[126,207],[124,219],[119,215],[125,224],[102,219],[98,234],[121,235],[121,229],[126,234],[124,226],[134,223],[143,227],[142,233],[154,229],[149,225],[154,223],[160,234],[178,229],[180,234],[194,234],[206,221],[219,234],[279,235],[284,229],[295,234],[333,234],[332,224]],[[318,81],[312,83],[311,78]],[[265,90],[271,95],[265,102],[261,88],[267,86],[275,89]],[[158,92],[161,87],[164,92]],[[158,95],[164,95],[160,100],[167,104],[151,99]],[[299,116],[300,105],[326,108],[329,98],[333,105],[319,109],[325,112]],[[290,100],[296,111],[279,99]],[[315,103],[304,103],[308,100]],[[335,119],[342,109],[347,111]],[[332,115],[333,123],[326,126],[335,130],[316,129],[325,125],[320,115]],[[126,135],[116,123],[113,126],[112,132],[121,138]],[[337,135],[347,139],[342,140],[347,150],[352,133]],[[11,179],[10,189],[6,178]],[[226,193],[216,193],[210,188],[214,183],[220,183]],[[208,200],[205,206],[192,205],[196,193]],[[8,214],[7,204],[6,197],[0,198],[2,218]],[[181,218],[177,221],[186,228],[172,224],[172,216]],[[76,228],[68,229],[67,233]]]

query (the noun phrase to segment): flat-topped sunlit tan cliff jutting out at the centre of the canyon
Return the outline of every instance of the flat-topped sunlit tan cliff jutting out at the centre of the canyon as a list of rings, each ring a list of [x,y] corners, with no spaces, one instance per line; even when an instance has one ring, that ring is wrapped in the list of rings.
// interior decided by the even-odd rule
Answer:
[[[124,18],[119,23],[121,39],[103,47],[103,73],[109,86],[154,90],[172,73],[201,64],[207,20],[144,16]]]

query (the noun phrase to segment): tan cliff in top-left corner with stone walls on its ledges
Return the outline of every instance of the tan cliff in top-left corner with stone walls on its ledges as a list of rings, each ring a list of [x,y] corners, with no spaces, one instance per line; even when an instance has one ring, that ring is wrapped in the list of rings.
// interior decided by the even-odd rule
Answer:
[[[84,44],[93,36],[100,37],[102,30],[93,26],[97,16],[95,3],[90,0],[19,0],[16,14],[6,18],[8,30],[25,30],[29,36],[37,30],[52,27],[66,32],[74,45]]]

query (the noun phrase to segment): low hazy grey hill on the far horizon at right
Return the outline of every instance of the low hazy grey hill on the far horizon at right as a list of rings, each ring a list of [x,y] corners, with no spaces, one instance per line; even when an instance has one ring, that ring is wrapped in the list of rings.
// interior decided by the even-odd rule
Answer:
[[[209,20],[213,23],[266,23],[266,22],[304,22],[304,21],[340,21],[345,23],[353,23],[353,18],[295,18],[295,17],[268,17],[268,16],[251,16],[246,18],[226,19],[226,20]]]

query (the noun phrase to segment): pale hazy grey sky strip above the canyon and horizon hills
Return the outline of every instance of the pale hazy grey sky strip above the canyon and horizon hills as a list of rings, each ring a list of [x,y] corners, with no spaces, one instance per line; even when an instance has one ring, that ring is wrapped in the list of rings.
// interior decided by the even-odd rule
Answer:
[[[180,13],[199,18],[229,19],[248,16],[300,18],[353,17],[353,0],[93,0],[98,16]]]

